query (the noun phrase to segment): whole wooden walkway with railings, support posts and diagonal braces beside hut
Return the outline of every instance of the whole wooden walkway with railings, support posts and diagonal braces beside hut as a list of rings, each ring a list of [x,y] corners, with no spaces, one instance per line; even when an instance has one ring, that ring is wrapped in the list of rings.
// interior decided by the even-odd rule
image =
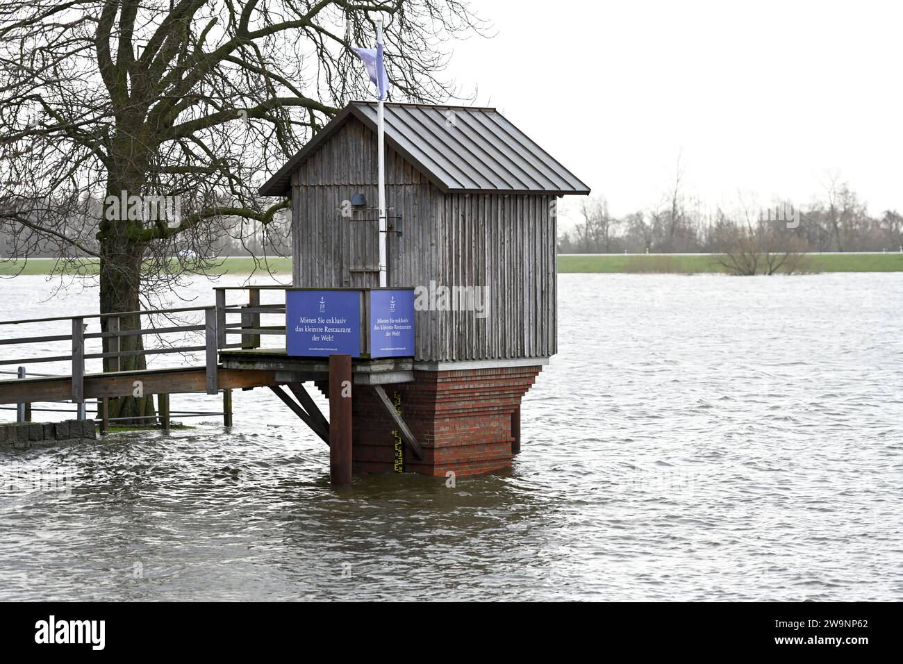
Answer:
[[[187,393],[219,394],[228,401],[226,424],[231,425],[231,390],[269,388],[295,415],[311,428],[314,434],[329,444],[329,422],[316,407],[303,386],[304,382],[328,379],[329,358],[289,357],[282,347],[261,347],[262,336],[285,335],[284,296],[281,304],[261,304],[261,291],[284,291],[282,286],[219,287],[214,288],[216,304],[199,307],[180,307],[143,312],[87,314],[81,316],[56,316],[18,321],[0,321],[0,335],[11,326],[37,327],[46,331],[54,326],[62,328],[58,333],[42,333],[33,336],[0,339],[0,369],[5,366],[25,368],[25,378],[0,380],[0,404],[20,405],[20,417],[26,412],[25,404],[36,402],[70,402],[80,405],[80,418],[85,418],[84,403],[98,400],[101,432],[109,426],[107,399],[135,396],[140,386],[141,396],[157,395],[161,425],[169,426],[169,395]],[[247,291],[244,304],[227,304],[227,296]],[[140,316],[146,320],[140,330],[123,328],[126,320]],[[279,324],[263,325],[261,317],[279,317]],[[177,318],[197,320],[179,323]],[[100,332],[87,332],[86,321],[97,320]],[[161,321],[163,323],[161,323]],[[97,323],[95,323],[97,327]],[[66,333],[69,331],[68,333]],[[61,332],[61,333],[60,333]],[[157,343],[150,348],[122,351],[122,340],[129,336],[154,337]],[[175,339],[173,339],[175,337]],[[229,338],[239,337],[239,341]],[[186,341],[187,340],[187,341]],[[98,349],[87,345],[97,344]],[[64,344],[56,354],[38,354],[36,346],[46,348]],[[15,347],[18,357],[9,358],[8,348]],[[106,350],[105,348],[106,347]],[[171,366],[140,370],[119,370],[121,359],[130,356],[145,358],[167,355],[181,357],[182,363],[173,361]],[[202,355],[203,364],[191,358]],[[86,372],[86,361],[101,360],[106,371]],[[70,371],[61,375],[27,377],[35,365],[54,363],[68,365]],[[20,369],[21,370],[21,369]],[[7,373],[10,373],[7,371]],[[351,362],[351,379],[355,385],[368,385],[381,401],[385,401],[389,416],[403,429],[403,437],[414,454],[420,458],[422,450],[405,423],[388,403],[382,385],[406,382],[413,379],[413,360],[410,358],[369,360],[362,358]],[[284,389],[288,388],[288,391]],[[384,398],[385,397],[385,398]],[[224,411],[225,412],[225,411]],[[147,416],[135,419],[146,420]],[[349,443],[350,444],[350,443]]]

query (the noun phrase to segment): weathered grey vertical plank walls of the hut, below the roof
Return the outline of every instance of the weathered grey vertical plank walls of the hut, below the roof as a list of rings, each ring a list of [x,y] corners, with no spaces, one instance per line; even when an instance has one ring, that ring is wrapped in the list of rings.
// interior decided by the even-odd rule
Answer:
[[[341,214],[342,201],[358,192],[376,207],[376,159],[376,136],[352,119],[294,173],[295,285],[378,285],[377,211]],[[404,234],[389,236],[390,285],[489,286],[485,318],[417,312],[417,360],[554,354],[554,196],[443,194],[390,150],[386,200],[389,215],[404,219]]]

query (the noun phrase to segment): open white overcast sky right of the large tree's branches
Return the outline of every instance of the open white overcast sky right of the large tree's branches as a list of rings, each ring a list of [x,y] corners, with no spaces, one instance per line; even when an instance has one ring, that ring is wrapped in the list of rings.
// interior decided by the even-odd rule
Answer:
[[[472,6],[497,35],[457,43],[448,73],[614,214],[655,205],[679,154],[711,207],[805,205],[840,173],[871,212],[903,210],[903,3]]]

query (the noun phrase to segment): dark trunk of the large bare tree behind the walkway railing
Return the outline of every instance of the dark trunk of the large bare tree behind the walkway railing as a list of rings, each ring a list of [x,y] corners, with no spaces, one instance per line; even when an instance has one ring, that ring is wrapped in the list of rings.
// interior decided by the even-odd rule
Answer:
[[[122,189],[116,185],[109,187],[108,195],[118,197]],[[113,190],[113,191],[110,191]],[[128,190],[126,190],[127,192]],[[136,312],[141,309],[139,293],[141,288],[141,266],[144,257],[144,246],[129,237],[128,220],[110,220],[104,206],[105,217],[101,222],[100,244],[100,313]],[[116,215],[113,215],[116,216]],[[140,222],[139,222],[140,223]],[[101,319],[101,330],[107,332],[108,318]],[[136,314],[121,316],[119,329],[141,329],[141,317]],[[109,339],[103,341],[104,352],[110,351]],[[119,337],[119,351],[144,350],[141,335],[134,334]],[[115,369],[116,360],[104,359],[104,371]],[[120,371],[146,369],[147,362],[143,355],[126,355],[119,358]],[[135,381],[132,397],[116,397],[109,400],[110,417],[135,417],[135,419],[119,420],[121,426],[148,426],[156,422],[154,397],[144,394],[144,384]]]

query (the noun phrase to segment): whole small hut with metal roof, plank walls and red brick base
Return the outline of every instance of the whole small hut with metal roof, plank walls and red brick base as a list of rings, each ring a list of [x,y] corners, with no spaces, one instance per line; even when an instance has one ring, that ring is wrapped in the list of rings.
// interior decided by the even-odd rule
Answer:
[[[386,103],[385,127],[388,285],[416,309],[414,379],[390,391],[424,458],[358,390],[354,468],[504,468],[556,350],[556,201],[589,188],[494,108]],[[378,286],[376,103],[343,108],[260,192],[292,200],[295,286]]]

